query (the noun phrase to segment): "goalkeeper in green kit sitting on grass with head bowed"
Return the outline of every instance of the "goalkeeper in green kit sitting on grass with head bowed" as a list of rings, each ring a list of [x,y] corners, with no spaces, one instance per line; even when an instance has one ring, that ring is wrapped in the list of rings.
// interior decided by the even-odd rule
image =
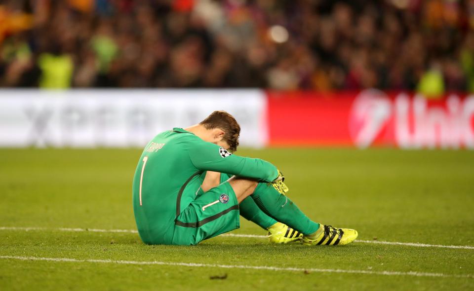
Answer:
[[[225,111],[158,134],[133,179],[133,211],[146,244],[196,245],[237,229],[239,215],[268,229],[270,241],[345,245],[357,231],[312,221],[285,195],[271,163],[233,155],[240,126]]]

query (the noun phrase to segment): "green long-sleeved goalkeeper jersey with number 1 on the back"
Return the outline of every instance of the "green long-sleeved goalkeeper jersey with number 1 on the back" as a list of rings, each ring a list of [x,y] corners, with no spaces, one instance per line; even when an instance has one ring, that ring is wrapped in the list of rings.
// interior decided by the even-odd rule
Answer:
[[[169,240],[176,218],[202,191],[206,171],[264,182],[278,176],[271,163],[233,155],[182,128],[162,132],[145,147],[133,179],[133,211],[144,242]]]

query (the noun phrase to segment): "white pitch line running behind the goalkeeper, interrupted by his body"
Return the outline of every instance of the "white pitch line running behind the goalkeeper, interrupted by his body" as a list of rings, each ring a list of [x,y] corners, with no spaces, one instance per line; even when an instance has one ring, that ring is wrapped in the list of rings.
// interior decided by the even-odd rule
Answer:
[[[134,229],[96,229],[96,228],[45,228],[45,227],[14,227],[14,226],[1,226],[0,230],[58,230],[58,231],[73,231],[73,232],[121,232],[121,233],[138,233]],[[247,237],[247,238],[267,238],[266,235],[256,235],[256,234],[234,234],[226,233],[221,234],[220,236],[228,237]],[[474,250],[474,246],[453,246],[453,245],[430,245],[423,243],[402,243],[402,242],[386,242],[386,241],[364,241],[356,240],[357,243],[363,244],[382,244],[382,245],[395,245],[395,246],[407,246],[407,247],[420,247],[420,248],[443,248],[443,249],[464,249],[464,250]]]

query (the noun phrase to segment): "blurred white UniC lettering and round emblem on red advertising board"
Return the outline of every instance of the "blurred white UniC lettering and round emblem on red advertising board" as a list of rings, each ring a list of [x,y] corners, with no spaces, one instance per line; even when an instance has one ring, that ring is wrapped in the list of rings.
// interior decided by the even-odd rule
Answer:
[[[428,102],[422,96],[401,93],[389,97],[370,89],[355,99],[349,132],[360,148],[374,143],[401,148],[474,148],[474,97]]]

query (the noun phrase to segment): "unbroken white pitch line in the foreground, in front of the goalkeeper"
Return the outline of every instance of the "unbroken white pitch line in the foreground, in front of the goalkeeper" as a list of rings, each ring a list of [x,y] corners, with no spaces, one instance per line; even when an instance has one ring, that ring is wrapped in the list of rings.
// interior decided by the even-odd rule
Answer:
[[[0,259],[16,259],[31,261],[54,261],[54,262],[80,262],[80,263],[113,263],[124,265],[166,265],[166,266],[186,266],[186,267],[209,267],[226,269],[254,269],[269,271],[290,271],[290,272],[315,272],[315,273],[346,273],[346,274],[365,274],[365,275],[385,275],[385,276],[416,276],[416,277],[453,277],[453,278],[474,278],[472,274],[443,274],[443,273],[425,273],[425,272],[398,272],[398,271],[368,271],[368,270],[344,270],[344,269],[317,269],[317,268],[282,268],[274,266],[251,266],[251,265],[221,265],[221,264],[202,264],[202,263],[184,263],[184,262],[163,262],[163,261],[126,261],[110,259],[75,259],[67,257],[37,257],[37,256],[13,256],[0,255]]]

